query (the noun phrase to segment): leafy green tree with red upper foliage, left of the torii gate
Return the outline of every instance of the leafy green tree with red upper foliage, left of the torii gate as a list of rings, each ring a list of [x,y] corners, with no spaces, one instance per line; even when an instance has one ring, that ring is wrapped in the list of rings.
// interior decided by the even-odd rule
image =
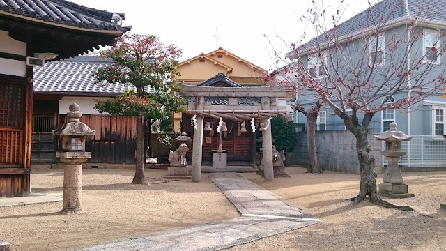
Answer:
[[[112,116],[137,118],[136,170],[132,183],[145,184],[144,176],[144,119],[165,119],[180,111],[185,104],[174,91],[181,51],[174,45],[163,45],[151,35],[123,35],[116,46],[101,52],[113,62],[94,73],[97,84],[132,84],[133,91],[125,91],[108,100],[97,100],[95,109]]]

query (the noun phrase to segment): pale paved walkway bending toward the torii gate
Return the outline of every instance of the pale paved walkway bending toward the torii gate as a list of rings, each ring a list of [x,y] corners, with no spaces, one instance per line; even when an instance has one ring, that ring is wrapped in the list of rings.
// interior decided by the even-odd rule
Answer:
[[[220,250],[320,222],[240,174],[212,173],[208,176],[240,211],[239,218],[70,250]]]

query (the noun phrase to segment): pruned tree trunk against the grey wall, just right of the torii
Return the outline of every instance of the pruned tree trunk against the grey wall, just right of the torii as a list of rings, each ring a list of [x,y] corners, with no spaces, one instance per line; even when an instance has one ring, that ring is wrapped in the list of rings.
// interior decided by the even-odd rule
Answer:
[[[316,121],[318,119],[319,109],[307,112],[307,140],[308,140],[308,168],[307,173],[322,173],[319,166],[318,153],[316,151]]]

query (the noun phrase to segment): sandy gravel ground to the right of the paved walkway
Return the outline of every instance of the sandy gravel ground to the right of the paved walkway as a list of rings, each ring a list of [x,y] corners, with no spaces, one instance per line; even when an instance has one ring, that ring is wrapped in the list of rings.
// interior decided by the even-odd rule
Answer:
[[[325,172],[305,174],[289,168],[291,178],[268,183],[252,174],[250,181],[313,213],[323,223],[228,250],[446,250],[446,172],[403,173],[413,198],[385,199],[411,206],[399,211],[367,201],[353,208],[360,177]],[[377,183],[383,181],[378,175]]]

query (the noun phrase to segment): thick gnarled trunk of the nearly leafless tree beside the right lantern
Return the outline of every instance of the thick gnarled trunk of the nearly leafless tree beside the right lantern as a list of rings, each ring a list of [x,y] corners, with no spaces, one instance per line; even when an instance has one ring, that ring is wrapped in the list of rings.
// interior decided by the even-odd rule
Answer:
[[[377,203],[380,199],[376,188],[375,157],[367,137],[367,128],[356,123],[348,129],[355,135],[357,158],[360,162],[360,192],[355,198],[355,205],[366,197],[372,203]]]

